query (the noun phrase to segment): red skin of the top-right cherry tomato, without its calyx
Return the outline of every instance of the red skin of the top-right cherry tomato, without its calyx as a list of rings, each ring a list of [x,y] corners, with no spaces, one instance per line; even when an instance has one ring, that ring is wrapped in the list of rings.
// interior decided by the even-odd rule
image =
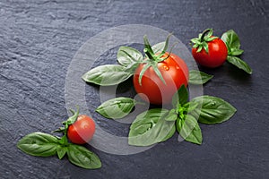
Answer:
[[[192,48],[192,55],[196,63],[209,68],[215,68],[224,64],[228,55],[228,49],[221,38],[215,38],[207,42],[207,44],[208,53],[206,53],[204,48],[200,52],[197,52],[198,47]]]

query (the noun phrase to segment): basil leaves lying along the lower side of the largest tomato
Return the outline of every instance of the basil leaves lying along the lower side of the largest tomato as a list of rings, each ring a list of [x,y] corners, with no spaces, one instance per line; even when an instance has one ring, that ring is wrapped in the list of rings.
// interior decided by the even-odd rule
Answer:
[[[96,112],[109,119],[120,119],[130,114],[135,105],[133,98],[112,98],[97,107]],[[152,108],[137,115],[130,126],[128,143],[150,146],[167,141],[176,130],[186,141],[201,144],[203,137],[199,124],[221,124],[235,114],[236,108],[221,98],[201,96],[188,101],[183,85],[174,95],[172,107]]]

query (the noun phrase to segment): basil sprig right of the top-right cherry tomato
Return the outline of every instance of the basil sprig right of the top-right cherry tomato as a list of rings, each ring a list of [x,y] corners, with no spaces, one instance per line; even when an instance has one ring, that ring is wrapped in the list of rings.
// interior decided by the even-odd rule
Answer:
[[[228,48],[227,61],[248,74],[251,74],[252,69],[249,65],[238,57],[238,55],[241,55],[244,52],[244,50],[240,49],[238,34],[234,30],[228,30],[222,34],[221,39],[225,42],[226,47]]]

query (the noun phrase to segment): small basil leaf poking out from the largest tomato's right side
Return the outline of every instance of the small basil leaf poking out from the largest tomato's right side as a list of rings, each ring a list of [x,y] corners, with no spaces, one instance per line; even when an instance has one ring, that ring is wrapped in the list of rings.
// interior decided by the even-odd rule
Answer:
[[[205,72],[200,72],[197,70],[189,71],[189,80],[190,84],[204,84],[207,81],[210,81],[213,78],[213,75],[207,74]]]

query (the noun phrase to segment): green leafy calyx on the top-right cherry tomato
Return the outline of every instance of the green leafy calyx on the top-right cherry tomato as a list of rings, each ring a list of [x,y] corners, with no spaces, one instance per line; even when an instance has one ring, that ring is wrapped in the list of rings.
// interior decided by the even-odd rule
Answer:
[[[204,48],[205,52],[208,53],[208,42],[212,41],[217,37],[213,37],[213,29],[206,29],[199,34],[198,38],[192,38],[190,41],[193,43],[193,47],[197,48],[197,52],[201,52]]]

